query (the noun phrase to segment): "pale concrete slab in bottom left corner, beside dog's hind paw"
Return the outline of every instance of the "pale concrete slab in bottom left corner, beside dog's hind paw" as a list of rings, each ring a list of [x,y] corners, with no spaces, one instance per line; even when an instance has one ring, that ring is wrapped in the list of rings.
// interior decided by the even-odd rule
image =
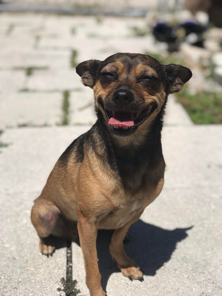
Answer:
[[[0,190],[2,296],[59,295],[60,279],[66,276],[65,248],[54,258],[39,252],[38,236],[30,223],[30,209],[38,194],[34,190],[15,189],[11,194]]]

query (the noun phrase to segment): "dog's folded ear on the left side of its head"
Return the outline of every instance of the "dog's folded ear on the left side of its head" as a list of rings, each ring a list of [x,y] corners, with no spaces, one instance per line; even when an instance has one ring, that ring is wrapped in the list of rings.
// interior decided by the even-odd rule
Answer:
[[[100,63],[101,61],[97,59],[90,59],[89,61],[80,63],[76,67],[76,73],[81,76],[82,83],[85,86],[93,88],[95,85],[95,78]]]

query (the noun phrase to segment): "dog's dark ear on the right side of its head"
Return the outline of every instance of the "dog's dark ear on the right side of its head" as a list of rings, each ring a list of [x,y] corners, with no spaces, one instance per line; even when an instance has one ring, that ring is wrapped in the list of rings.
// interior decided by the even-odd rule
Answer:
[[[169,94],[181,91],[184,83],[192,77],[192,72],[184,66],[169,64],[163,65],[163,67],[166,74],[167,91]]]

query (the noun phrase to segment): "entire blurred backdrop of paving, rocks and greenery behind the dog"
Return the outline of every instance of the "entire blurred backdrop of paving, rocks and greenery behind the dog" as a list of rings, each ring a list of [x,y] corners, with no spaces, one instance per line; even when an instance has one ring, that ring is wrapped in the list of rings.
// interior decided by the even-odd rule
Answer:
[[[192,70],[166,124],[178,103],[187,122],[222,123],[221,16],[220,0],[0,1],[0,129],[92,124],[92,93],[75,67],[116,52]]]

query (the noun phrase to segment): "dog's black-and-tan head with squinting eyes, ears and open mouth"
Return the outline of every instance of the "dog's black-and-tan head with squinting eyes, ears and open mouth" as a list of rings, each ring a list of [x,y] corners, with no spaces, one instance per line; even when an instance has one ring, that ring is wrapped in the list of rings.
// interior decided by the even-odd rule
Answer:
[[[181,65],[161,65],[145,54],[118,53],[80,63],[76,72],[93,88],[98,118],[116,136],[144,131],[191,76]]]

